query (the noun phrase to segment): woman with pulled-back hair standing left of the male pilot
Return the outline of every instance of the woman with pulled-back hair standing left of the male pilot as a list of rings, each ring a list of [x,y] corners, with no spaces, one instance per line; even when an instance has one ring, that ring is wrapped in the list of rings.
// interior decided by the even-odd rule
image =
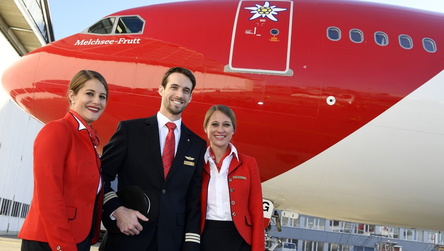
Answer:
[[[18,237],[21,250],[90,250],[99,239],[103,188],[99,137],[91,123],[105,110],[101,74],[79,71],[68,86],[69,111],[34,142],[34,195]]]

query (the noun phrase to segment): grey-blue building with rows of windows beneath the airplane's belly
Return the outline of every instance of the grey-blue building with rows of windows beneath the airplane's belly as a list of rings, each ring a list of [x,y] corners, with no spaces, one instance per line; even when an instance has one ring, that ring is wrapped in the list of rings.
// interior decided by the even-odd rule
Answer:
[[[276,240],[294,243],[297,251],[436,251],[444,250],[440,231],[376,226],[276,211],[265,248]],[[277,226],[281,226],[278,231]],[[279,250],[279,246],[277,249]]]

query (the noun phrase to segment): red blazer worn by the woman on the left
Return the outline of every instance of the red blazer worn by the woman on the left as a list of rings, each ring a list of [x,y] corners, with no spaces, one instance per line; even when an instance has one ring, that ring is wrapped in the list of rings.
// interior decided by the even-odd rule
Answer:
[[[94,210],[100,159],[86,129],[70,113],[49,122],[34,142],[34,195],[19,238],[49,242],[52,250],[77,251],[95,217],[100,231],[103,189]],[[81,125],[83,127],[83,125]],[[84,127],[83,127],[84,128]]]

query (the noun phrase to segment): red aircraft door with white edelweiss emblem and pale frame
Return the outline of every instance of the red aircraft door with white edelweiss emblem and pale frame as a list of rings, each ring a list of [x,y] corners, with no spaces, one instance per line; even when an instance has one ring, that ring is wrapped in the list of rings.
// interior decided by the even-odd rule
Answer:
[[[225,71],[292,75],[291,1],[240,1]]]

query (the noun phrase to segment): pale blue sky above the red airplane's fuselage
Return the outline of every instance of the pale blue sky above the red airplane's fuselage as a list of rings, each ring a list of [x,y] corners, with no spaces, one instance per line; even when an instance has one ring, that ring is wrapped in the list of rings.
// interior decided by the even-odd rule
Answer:
[[[314,0],[313,0],[314,1]],[[443,0],[368,0],[444,13]],[[49,0],[55,39],[86,29],[111,13],[144,5],[179,2],[178,0]]]

